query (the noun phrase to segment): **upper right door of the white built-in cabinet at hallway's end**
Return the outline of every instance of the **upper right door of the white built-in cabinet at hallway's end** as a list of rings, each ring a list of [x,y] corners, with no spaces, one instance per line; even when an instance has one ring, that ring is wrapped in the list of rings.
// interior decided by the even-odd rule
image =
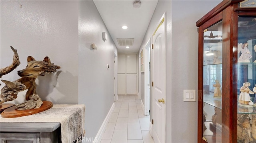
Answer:
[[[137,73],[137,54],[126,54],[126,73]]]

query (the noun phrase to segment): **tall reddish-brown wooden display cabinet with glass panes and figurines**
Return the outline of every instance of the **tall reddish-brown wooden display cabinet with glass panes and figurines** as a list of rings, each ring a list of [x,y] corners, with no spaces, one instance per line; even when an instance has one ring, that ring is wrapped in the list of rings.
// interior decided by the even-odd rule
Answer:
[[[198,143],[256,143],[256,0],[224,0],[196,26]]]

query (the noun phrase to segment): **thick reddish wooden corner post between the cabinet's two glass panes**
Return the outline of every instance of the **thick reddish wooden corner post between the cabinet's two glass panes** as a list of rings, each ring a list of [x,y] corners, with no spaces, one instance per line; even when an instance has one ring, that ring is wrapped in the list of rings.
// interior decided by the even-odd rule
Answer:
[[[233,66],[237,62],[237,54],[233,53],[233,48],[237,47],[238,27],[238,13],[234,12],[235,6],[238,5],[234,4],[223,10],[223,33],[225,33],[222,37],[222,75],[225,75],[222,79],[223,143],[236,143],[237,140],[237,94],[234,93],[237,78],[233,78]],[[234,52],[237,53],[235,50]],[[234,58],[236,59],[234,60]]]

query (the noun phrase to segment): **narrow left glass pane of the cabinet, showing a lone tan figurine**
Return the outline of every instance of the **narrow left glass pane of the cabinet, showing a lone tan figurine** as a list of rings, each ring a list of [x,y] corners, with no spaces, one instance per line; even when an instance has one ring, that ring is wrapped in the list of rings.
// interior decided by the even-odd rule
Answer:
[[[222,127],[222,21],[204,30],[203,137],[221,142]]]

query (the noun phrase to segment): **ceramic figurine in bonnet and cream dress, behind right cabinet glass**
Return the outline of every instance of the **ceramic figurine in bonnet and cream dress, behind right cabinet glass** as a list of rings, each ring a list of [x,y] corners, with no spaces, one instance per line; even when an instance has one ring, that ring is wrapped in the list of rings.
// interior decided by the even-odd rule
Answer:
[[[250,94],[254,94],[252,90],[250,90],[250,82],[244,82],[243,86],[240,88],[240,95],[238,98],[239,105],[253,105],[253,102],[251,101]]]

